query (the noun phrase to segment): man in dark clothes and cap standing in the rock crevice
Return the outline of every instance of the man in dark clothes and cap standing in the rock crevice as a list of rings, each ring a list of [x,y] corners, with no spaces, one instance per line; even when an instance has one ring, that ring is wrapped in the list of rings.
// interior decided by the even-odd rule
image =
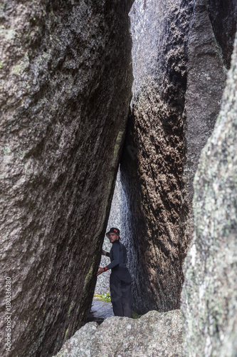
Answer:
[[[102,250],[102,255],[110,257],[110,264],[101,268],[99,266],[97,276],[111,269],[110,296],[112,309],[115,316],[127,316],[132,318],[132,278],[127,270],[127,251],[120,242],[120,230],[110,228],[106,233],[112,243],[110,253]]]

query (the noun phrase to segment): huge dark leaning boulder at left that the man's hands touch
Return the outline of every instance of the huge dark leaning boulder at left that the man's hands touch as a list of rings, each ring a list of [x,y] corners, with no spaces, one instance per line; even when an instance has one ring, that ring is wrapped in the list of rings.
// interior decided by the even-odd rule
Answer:
[[[52,356],[92,301],[131,99],[131,4],[1,5],[0,264],[2,286],[11,278],[9,356]]]

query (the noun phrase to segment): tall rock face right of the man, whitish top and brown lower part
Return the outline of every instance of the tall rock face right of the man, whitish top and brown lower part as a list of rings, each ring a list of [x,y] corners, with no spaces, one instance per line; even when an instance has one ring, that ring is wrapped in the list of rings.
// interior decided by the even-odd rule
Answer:
[[[121,227],[137,311],[179,306],[184,95],[189,24],[184,1],[136,1],[130,11],[135,81],[121,163]],[[128,244],[129,244],[128,243]]]

